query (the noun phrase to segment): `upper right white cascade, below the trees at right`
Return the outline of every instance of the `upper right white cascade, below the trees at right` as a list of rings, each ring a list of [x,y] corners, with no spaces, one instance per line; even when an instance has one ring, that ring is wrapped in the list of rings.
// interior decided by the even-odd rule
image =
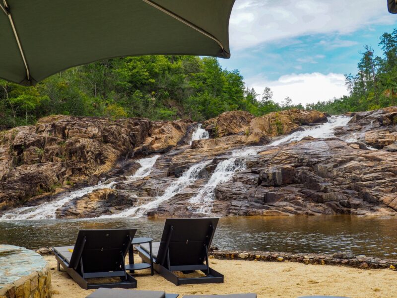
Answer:
[[[287,135],[279,140],[270,143],[270,146],[277,146],[282,143],[291,143],[294,141],[300,141],[305,137],[313,138],[332,138],[333,129],[340,126],[345,126],[350,121],[350,117],[347,116],[331,116],[328,121],[324,124],[317,126],[306,126],[303,131],[295,132],[291,135]]]

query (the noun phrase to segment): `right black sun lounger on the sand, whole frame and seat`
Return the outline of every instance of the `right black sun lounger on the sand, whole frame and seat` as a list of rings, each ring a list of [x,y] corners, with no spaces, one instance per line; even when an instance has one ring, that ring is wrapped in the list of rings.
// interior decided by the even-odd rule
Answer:
[[[215,233],[217,218],[167,219],[161,242],[153,243],[154,270],[175,285],[223,283],[223,275],[209,267],[208,250]],[[136,248],[142,262],[149,263],[149,245]],[[205,262],[205,263],[204,263]],[[200,270],[201,277],[178,277]]]

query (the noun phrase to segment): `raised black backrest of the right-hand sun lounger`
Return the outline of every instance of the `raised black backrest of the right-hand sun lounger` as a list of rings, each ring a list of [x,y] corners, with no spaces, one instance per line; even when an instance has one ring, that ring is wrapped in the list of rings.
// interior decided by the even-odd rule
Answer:
[[[167,219],[157,262],[168,267],[168,247],[170,266],[203,264],[218,221],[218,218]]]

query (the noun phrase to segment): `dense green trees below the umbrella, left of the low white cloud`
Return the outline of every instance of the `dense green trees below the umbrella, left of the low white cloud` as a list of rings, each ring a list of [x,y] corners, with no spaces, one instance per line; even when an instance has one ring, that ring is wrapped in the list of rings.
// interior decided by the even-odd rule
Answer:
[[[222,69],[215,58],[118,58],[69,69],[34,87],[0,80],[0,128],[51,114],[202,121],[229,110],[262,115],[289,107],[265,92],[258,99],[237,70]]]

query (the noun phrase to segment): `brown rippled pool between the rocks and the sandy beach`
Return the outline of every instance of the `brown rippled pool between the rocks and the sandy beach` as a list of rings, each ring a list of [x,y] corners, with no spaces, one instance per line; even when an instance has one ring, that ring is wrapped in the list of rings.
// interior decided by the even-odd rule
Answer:
[[[0,243],[28,248],[72,244],[80,228],[136,227],[137,236],[161,237],[164,220],[37,220],[0,222]],[[230,217],[220,220],[220,249],[332,253],[395,258],[397,219],[350,216]]]

